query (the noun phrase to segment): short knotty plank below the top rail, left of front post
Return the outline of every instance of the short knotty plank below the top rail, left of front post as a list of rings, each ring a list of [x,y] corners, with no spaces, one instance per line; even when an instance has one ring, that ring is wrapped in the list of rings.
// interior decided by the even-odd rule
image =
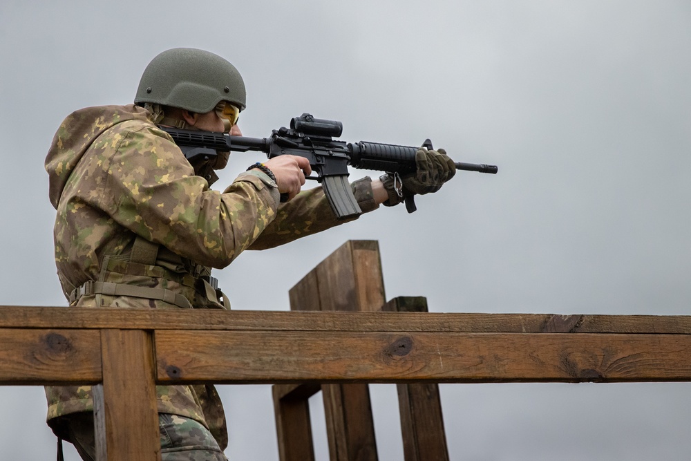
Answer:
[[[0,385],[100,382],[97,330],[0,330]]]

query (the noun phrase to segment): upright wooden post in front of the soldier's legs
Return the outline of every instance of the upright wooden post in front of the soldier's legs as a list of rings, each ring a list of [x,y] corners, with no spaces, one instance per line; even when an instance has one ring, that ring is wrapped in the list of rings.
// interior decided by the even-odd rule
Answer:
[[[93,386],[97,461],[161,459],[151,332],[101,330],[103,384]]]

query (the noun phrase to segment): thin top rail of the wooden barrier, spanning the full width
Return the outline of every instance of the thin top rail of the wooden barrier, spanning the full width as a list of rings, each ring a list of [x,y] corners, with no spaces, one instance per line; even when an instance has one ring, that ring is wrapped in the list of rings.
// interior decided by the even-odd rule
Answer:
[[[691,316],[299,312],[0,306],[0,328],[691,334]]]

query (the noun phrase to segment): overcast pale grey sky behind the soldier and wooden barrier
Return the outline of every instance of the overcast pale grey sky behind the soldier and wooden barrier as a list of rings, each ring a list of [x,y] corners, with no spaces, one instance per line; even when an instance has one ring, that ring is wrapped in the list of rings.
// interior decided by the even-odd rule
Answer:
[[[689,313],[688,0],[3,0],[0,305],[66,302],[43,169],[61,120],[131,102],[146,64],[176,46],[240,70],[245,135],[310,112],[341,120],[344,140],[430,138],[456,161],[500,168],[458,173],[415,214],[380,209],[243,254],[216,273],[235,309],[286,310],[290,287],[332,250],[375,239],[388,297],[426,296],[434,312]],[[218,187],[256,160],[231,156]],[[451,459],[686,460],[690,391],[444,385]],[[220,392],[230,459],[277,460],[269,387]],[[401,460],[395,386],[372,395],[379,459]],[[53,459],[41,388],[0,389],[0,411],[0,460]]]

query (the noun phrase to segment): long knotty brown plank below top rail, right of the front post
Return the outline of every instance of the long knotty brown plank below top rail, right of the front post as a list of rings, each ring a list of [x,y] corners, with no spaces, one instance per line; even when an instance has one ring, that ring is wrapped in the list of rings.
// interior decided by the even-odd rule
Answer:
[[[691,381],[691,336],[155,332],[159,382]]]

